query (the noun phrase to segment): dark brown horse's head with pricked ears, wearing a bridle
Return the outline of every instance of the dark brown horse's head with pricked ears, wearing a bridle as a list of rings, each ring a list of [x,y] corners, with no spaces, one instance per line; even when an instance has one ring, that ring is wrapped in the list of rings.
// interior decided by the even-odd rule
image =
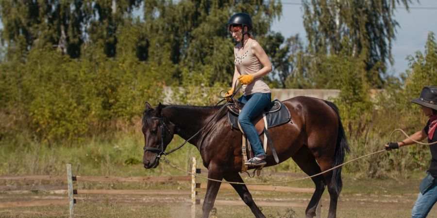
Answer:
[[[143,112],[142,132],[144,134],[144,168],[156,168],[159,165],[158,156],[164,152],[168,143],[173,139],[174,132],[171,123],[161,114],[163,105],[159,103],[156,109],[152,109],[146,102]]]

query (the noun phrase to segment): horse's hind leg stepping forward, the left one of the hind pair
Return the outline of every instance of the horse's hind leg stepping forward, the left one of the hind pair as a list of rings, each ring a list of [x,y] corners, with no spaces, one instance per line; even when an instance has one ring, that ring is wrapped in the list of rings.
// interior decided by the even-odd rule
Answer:
[[[319,164],[317,164],[316,159],[314,158],[311,151],[308,149],[306,145],[303,145],[299,151],[292,156],[294,162],[308,175],[315,175],[320,173]],[[326,182],[323,178],[323,175],[319,175],[311,178],[316,186],[316,190],[314,191],[313,197],[311,197],[308,206],[306,207],[305,214],[307,218],[312,218],[316,216],[316,208],[319,200],[325,190]]]

